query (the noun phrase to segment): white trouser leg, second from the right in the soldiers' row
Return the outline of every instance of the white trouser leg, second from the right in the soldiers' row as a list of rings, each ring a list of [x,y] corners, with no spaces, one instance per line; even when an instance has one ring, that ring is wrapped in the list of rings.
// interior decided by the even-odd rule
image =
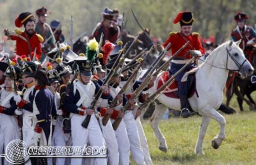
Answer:
[[[141,149],[141,143],[139,138],[139,132],[137,129],[137,124],[134,119],[132,111],[128,111],[124,115],[124,123],[128,133],[128,139],[130,142],[130,150],[132,152],[133,158],[137,165],[146,165],[143,158],[143,152]]]

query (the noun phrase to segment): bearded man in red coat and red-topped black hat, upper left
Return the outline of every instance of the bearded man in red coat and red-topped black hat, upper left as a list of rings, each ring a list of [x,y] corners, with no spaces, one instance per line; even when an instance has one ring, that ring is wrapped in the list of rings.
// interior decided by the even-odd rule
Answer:
[[[15,26],[21,27],[24,25],[25,31],[14,30],[18,35],[12,35],[8,32],[7,29],[4,30],[5,35],[8,36],[8,39],[16,40],[16,53],[17,55],[26,55],[33,59],[34,50],[36,48],[36,59],[41,58],[41,45],[44,41],[40,34],[35,33],[35,18],[32,13],[25,12],[21,13],[19,17],[15,20]],[[25,38],[27,41],[23,40],[21,37]]]

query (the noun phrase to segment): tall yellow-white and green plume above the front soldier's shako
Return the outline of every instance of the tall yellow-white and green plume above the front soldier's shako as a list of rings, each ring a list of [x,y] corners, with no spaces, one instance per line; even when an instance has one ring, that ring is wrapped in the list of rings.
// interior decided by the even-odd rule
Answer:
[[[95,38],[93,40],[89,40],[86,47],[86,56],[91,63],[94,63],[94,59],[97,56],[98,47],[99,43],[95,40]]]

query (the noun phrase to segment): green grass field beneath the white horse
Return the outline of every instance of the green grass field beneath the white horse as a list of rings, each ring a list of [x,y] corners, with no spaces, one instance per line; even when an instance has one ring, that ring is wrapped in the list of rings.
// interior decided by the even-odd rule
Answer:
[[[144,120],[143,127],[153,163],[155,165],[256,165],[256,112],[250,112],[245,103],[243,104],[245,111],[239,112],[234,97],[230,106],[237,113],[224,114],[227,122],[226,139],[217,150],[212,148],[211,140],[218,134],[219,125],[215,120],[211,120],[203,143],[205,155],[202,156],[194,153],[201,123],[200,116],[162,120],[159,126],[167,141],[167,153],[158,149],[154,132],[148,120]]]

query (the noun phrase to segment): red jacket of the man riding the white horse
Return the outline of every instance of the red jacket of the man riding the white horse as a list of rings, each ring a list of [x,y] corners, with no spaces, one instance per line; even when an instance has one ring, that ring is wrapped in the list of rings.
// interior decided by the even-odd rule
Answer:
[[[183,36],[183,37],[182,37]],[[186,40],[185,40],[186,39]],[[171,43],[169,49],[171,49],[172,54],[177,52],[185,43],[189,41],[189,45],[182,50],[176,57],[183,57],[189,50],[199,50],[202,54],[204,54],[204,49],[199,39],[198,33],[191,33],[188,37],[185,37],[181,32],[171,32],[169,33],[169,37],[166,42],[163,44],[163,47],[167,46],[168,43]],[[168,50],[169,50],[168,49]],[[188,53],[184,59],[191,59],[192,55]]]

